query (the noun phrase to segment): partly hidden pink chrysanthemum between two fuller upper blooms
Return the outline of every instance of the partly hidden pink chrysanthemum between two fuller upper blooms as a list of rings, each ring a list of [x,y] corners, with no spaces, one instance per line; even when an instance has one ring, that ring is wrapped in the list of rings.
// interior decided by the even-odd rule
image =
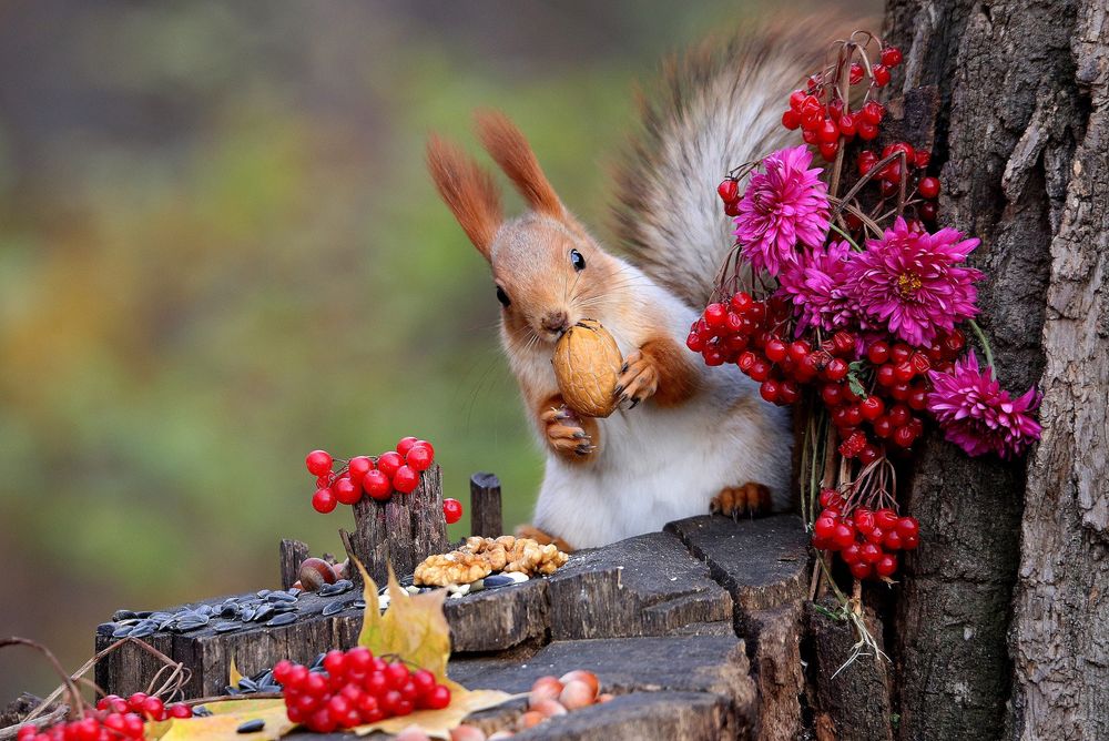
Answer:
[[[782,265],[777,280],[781,292],[793,302],[798,335],[808,327],[840,328],[854,315],[847,291],[851,255],[851,244],[832,242],[827,248],[808,250],[797,262]]]

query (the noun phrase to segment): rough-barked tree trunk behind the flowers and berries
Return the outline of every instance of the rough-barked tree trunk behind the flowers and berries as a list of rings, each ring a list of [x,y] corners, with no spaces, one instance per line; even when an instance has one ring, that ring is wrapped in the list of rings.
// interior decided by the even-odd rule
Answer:
[[[906,491],[922,545],[894,627],[903,739],[1109,738],[1106,12],[888,3],[905,89],[939,90],[940,219],[983,240],[999,377],[1022,393],[1042,374],[1046,392],[1030,464],[938,434],[922,450]]]

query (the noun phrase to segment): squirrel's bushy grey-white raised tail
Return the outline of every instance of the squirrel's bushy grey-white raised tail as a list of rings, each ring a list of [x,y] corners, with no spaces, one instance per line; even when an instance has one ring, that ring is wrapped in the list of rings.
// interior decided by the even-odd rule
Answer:
[[[735,242],[716,185],[730,169],[801,143],[782,112],[843,26],[824,20],[706,41],[669,60],[658,91],[643,97],[641,131],[617,169],[615,233],[644,273],[692,307],[704,306]]]

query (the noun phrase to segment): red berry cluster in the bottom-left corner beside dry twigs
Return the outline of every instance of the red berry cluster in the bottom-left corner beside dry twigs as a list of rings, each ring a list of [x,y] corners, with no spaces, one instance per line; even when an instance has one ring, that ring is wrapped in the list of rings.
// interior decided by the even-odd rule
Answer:
[[[96,702],[96,710],[84,718],[48,728],[24,725],[16,735],[17,741],[118,741],[141,739],[146,720],[192,718],[193,710],[182,702],[165,704],[160,698],[135,692],[123,699],[109,694]]]

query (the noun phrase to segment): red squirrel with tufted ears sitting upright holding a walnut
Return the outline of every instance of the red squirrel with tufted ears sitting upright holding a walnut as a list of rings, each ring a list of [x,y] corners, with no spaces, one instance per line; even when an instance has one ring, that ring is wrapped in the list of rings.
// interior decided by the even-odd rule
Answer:
[[[528,205],[515,219],[487,170],[429,139],[439,194],[492,270],[501,341],[547,454],[533,525],[520,534],[589,548],[709,511],[788,508],[787,413],[734,365],[706,367],[684,344],[735,241],[716,184],[795,143],[782,101],[811,60],[775,42],[706,47],[671,68],[620,173],[618,233],[630,260],[566,209],[503,114],[479,114],[477,130]],[[604,419],[568,409],[551,367],[554,344],[582,318],[600,322],[624,357],[621,404]]]

